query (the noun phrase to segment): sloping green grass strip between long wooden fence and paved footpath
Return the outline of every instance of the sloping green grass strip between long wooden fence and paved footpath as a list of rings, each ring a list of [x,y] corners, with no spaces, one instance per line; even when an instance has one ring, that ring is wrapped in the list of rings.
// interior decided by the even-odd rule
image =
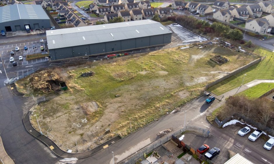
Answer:
[[[260,63],[253,65],[243,72],[240,72],[239,74],[236,74],[235,76],[214,85],[208,90],[217,95],[221,95],[240,86],[243,81],[244,74],[247,75],[244,83],[248,83],[255,79],[274,79],[274,53],[261,48],[255,49],[254,52],[265,58]]]

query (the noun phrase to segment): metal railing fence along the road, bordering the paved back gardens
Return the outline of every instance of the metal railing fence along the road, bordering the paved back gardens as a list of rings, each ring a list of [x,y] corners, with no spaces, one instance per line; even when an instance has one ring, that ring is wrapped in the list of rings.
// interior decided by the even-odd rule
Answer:
[[[138,152],[138,154],[134,154],[133,156],[130,156],[129,158],[127,158],[126,160],[124,160],[120,163],[124,163],[124,164],[136,163],[136,161],[138,159],[144,157],[144,153],[148,154],[153,149],[155,149],[155,148],[161,146],[162,144],[166,143],[167,141],[171,140],[171,138],[173,136],[177,136],[184,131],[194,131],[194,132],[199,133],[200,135],[205,136],[205,137],[208,137],[209,133],[210,133],[210,131],[208,129],[199,128],[197,126],[185,126],[184,128],[182,128],[178,131],[175,131],[175,132],[169,134],[168,136],[163,137],[163,139],[159,139],[159,140],[153,142],[152,144],[148,145],[144,149],[140,150]]]

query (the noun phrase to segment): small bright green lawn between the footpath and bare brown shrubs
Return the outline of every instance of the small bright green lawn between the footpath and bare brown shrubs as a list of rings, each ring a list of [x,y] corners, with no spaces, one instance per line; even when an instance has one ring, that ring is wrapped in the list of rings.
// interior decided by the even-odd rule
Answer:
[[[274,83],[260,83],[254,87],[239,93],[240,95],[246,95],[249,98],[258,98],[264,95],[266,92],[274,88]]]

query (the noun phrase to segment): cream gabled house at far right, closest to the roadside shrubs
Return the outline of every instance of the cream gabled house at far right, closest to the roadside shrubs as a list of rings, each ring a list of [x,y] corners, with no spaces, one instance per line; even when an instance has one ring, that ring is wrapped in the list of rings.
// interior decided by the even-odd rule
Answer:
[[[259,34],[265,34],[268,32],[269,25],[270,24],[266,18],[257,18],[246,21],[245,28],[248,30],[258,32]]]

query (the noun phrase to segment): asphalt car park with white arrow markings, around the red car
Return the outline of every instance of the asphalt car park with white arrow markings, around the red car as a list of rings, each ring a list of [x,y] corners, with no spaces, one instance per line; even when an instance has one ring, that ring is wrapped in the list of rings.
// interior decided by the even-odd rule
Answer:
[[[218,147],[220,154],[215,156],[211,161],[213,163],[225,163],[229,159],[228,150],[239,153],[253,163],[273,163],[273,149],[270,151],[264,149],[266,141],[260,137],[255,142],[248,140],[251,133],[241,137],[238,131],[245,125],[229,125],[219,129],[214,126],[210,128],[210,136],[205,138],[192,133],[185,133],[183,141],[194,149],[201,145],[207,144],[210,149]],[[252,130],[251,132],[253,132]],[[204,155],[204,154],[203,154]]]

